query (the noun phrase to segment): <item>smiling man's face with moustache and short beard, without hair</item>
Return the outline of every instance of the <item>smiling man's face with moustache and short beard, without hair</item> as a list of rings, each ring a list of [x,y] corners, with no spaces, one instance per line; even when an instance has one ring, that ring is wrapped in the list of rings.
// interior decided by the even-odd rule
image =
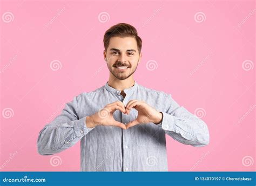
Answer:
[[[112,37],[104,51],[107,67],[111,74],[120,80],[129,78],[137,69],[141,54],[135,38]]]

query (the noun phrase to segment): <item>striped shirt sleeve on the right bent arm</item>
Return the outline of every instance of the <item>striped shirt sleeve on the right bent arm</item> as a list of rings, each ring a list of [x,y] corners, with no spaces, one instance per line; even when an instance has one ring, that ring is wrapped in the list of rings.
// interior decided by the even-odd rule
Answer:
[[[174,140],[194,147],[206,146],[210,142],[210,135],[206,123],[196,115],[179,106],[170,94],[166,96],[166,112],[163,120],[158,124],[165,133]]]

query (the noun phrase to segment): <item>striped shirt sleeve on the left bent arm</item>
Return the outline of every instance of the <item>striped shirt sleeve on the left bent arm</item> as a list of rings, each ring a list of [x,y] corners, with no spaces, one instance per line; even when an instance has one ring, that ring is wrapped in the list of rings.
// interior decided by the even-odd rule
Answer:
[[[76,144],[93,128],[86,127],[86,117],[78,118],[77,106],[81,95],[65,104],[62,113],[39,132],[37,150],[41,155],[59,153]]]

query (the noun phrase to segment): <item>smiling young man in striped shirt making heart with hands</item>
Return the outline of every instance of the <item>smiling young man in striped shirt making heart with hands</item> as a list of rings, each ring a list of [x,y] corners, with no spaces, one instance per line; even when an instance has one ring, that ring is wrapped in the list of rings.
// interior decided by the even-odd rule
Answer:
[[[65,105],[37,140],[38,153],[59,153],[81,140],[81,171],[167,171],[165,134],[194,147],[206,146],[206,123],[170,94],[133,79],[142,40],[125,23],[104,36],[109,81]]]

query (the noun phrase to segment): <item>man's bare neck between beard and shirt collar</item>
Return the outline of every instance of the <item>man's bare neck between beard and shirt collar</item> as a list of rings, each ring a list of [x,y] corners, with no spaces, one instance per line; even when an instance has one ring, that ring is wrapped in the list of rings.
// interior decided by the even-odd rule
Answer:
[[[117,89],[118,91],[123,91],[126,88],[130,88],[134,85],[134,83],[135,81],[133,78],[127,78],[124,80],[109,78],[109,81],[107,81],[107,84],[109,84],[109,86]]]

